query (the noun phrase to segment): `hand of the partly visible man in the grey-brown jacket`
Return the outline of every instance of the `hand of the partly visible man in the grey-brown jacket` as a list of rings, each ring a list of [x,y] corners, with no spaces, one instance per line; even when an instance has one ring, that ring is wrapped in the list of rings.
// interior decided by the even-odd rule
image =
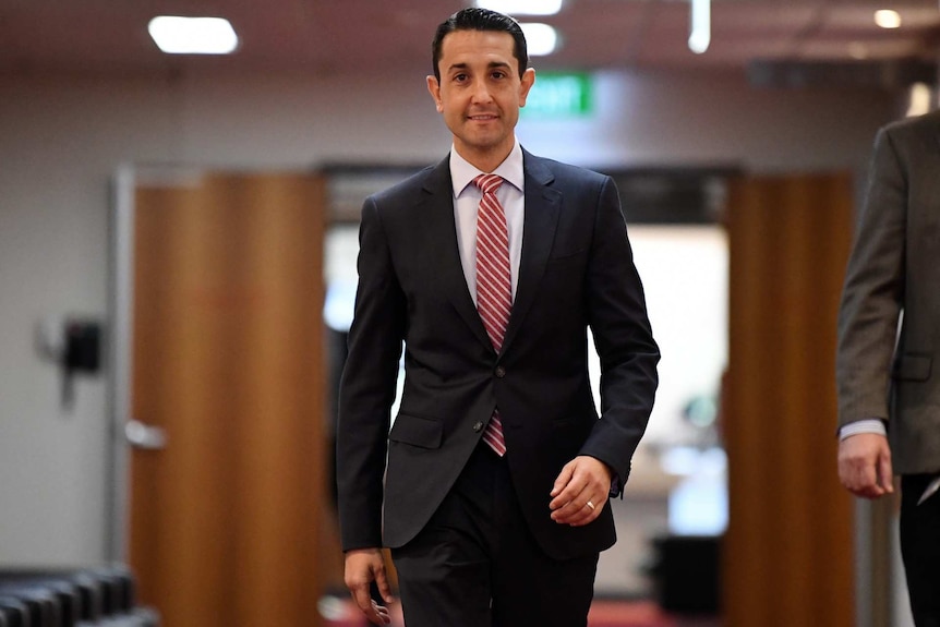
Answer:
[[[894,492],[888,438],[878,433],[849,435],[839,443],[839,480],[849,492],[878,498]]]

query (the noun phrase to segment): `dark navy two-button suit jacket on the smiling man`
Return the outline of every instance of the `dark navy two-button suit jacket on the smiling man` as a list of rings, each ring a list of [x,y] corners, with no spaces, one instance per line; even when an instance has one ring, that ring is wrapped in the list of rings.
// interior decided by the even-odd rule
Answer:
[[[659,350],[613,181],[525,152],[523,161],[519,281],[499,354],[461,269],[448,159],[365,201],[340,386],[344,550],[411,540],[497,406],[509,472],[544,551],[566,558],[615,540],[608,507],[589,526],[561,526],[549,493],[577,455],[606,462],[623,486],[652,409]],[[604,371],[600,420],[589,325]],[[389,433],[402,340],[405,389]]]

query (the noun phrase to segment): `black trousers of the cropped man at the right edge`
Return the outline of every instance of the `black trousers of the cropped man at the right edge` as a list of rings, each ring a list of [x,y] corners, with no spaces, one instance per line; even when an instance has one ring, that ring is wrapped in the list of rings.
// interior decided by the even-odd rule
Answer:
[[[901,478],[901,555],[917,627],[940,627],[940,492],[917,505],[935,477]]]

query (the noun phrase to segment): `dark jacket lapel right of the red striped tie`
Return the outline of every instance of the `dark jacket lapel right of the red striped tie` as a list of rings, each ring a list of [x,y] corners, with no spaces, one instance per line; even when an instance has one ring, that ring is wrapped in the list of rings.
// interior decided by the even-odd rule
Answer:
[[[519,262],[519,284],[516,288],[516,300],[513,302],[513,313],[506,336],[503,339],[503,351],[506,352],[513,338],[516,337],[522,321],[535,299],[535,292],[542,276],[562,209],[562,194],[549,185],[555,176],[538,157],[522,150],[526,172],[526,214],[522,226],[522,255]],[[479,316],[478,316],[479,317]],[[482,326],[482,325],[481,325]],[[484,329],[485,333],[485,329]]]

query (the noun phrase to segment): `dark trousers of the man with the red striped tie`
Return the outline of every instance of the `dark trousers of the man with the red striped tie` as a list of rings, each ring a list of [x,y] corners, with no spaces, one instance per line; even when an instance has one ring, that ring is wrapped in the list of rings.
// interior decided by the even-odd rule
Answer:
[[[588,623],[598,554],[545,555],[522,519],[506,460],[485,444],[427,526],[391,557],[408,627]]]

